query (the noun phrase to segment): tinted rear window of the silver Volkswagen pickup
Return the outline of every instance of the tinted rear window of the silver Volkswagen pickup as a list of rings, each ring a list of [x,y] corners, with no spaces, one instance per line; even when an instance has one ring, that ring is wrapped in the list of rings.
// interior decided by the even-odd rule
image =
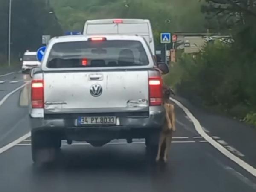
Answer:
[[[148,65],[140,41],[75,41],[52,46],[47,68],[127,67]]]

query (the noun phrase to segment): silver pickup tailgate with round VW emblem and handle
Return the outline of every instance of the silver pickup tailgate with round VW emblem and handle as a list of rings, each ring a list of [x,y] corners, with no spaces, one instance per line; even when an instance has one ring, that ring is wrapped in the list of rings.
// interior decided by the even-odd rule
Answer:
[[[145,112],[148,71],[44,73],[44,113]]]

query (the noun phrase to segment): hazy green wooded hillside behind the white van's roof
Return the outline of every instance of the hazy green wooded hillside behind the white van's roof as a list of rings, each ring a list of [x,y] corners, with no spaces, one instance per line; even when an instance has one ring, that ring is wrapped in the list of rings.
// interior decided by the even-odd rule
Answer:
[[[52,0],[52,6],[64,30],[82,30],[90,19],[144,18],[156,41],[163,31],[206,31],[198,0]]]

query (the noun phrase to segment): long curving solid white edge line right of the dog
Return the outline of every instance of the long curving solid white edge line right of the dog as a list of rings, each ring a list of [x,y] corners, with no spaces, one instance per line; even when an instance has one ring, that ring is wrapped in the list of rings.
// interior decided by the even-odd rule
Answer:
[[[213,147],[218,149],[222,154],[224,154],[226,157],[230,158],[230,160],[233,160],[235,163],[237,163],[239,166],[244,168],[247,172],[252,174],[253,176],[256,177],[256,169],[253,166],[250,166],[248,163],[245,161],[241,160],[239,157],[228,151],[226,148],[224,148],[221,144],[216,142],[212,137],[210,137],[201,127],[200,122],[195,118],[195,116],[192,115],[192,113],[186,108],[184,105],[182,105],[180,102],[177,100],[173,99],[170,97],[170,99],[175,102],[182,110],[186,113],[187,116],[192,120],[195,130],[200,134],[202,137],[204,137],[205,140],[207,140]]]

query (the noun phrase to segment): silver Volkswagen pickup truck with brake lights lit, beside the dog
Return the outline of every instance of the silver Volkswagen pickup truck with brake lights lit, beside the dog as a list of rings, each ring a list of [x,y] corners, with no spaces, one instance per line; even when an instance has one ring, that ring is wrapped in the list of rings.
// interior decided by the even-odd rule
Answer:
[[[33,161],[41,151],[57,151],[61,140],[102,146],[145,138],[155,148],[164,122],[157,67],[169,72],[140,36],[53,38],[30,73]]]

